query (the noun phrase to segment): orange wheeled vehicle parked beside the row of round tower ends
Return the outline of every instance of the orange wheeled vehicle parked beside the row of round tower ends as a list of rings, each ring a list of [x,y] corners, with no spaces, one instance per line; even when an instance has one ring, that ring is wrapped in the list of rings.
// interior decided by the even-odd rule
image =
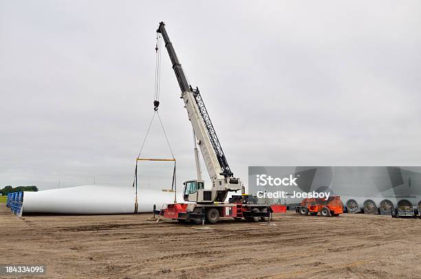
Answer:
[[[321,216],[339,216],[343,213],[343,203],[341,197],[331,196],[329,199],[307,198],[303,199],[299,206],[295,208],[296,212],[301,215],[317,215]]]

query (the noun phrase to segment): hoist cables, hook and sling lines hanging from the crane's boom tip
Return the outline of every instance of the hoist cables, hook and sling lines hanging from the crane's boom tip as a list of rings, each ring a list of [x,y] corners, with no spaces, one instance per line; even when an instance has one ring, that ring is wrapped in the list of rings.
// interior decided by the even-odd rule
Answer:
[[[144,136],[142,146],[140,147],[138,159],[140,158],[140,155],[142,154],[144,144],[145,144],[146,139],[149,135],[149,131],[151,130],[153,119],[155,118],[155,115],[158,115],[158,120],[160,121],[160,126],[161,126],[162,131],[164,132],[164,135],[165,135],[166,144],[168,144],[169,150],[171,152],[171,156],[174,159],[173,181],[171,183],[171,190],[174,190],[175,183],[176,183],[176,181],[175,181],[175,167],[176,167],[175,157],[174,157],[173,149],[171,148],[171,144],[169,143],[168,136],[166,135],[166,132],[165,132],[165,129],[164,129],[164,124],[162,124],[160,113],[158,113],[158,107],[160,105],[161,45],[162,45],[162,37],[161,37],[161,34],[157,33],[156,45],[155,45],[155,85],[154,85],[154,96],[153,96],[153,98],[154,98],[154,100],[153,100],[153,115],[152,115],[152,118],[151,118],[151,122],[149,122],[147,133]],[[138,159],[136,159],[136,168],[135,168],[133,186],[132,186],[132,187],[136,186],[135,213],[138,212]]]

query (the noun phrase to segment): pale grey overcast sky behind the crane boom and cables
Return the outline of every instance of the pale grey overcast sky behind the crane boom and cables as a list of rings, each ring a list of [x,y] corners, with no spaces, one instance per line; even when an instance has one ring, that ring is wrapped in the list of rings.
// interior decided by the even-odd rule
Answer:
[[[0,0],[0,188],[131,186],[159,21],[236,176],[419,166],[420,13],[419,1]],[[166,52],[160,101],[181,185],[193,139]],[[148,139],[142,155],[171,157],[158,122]],[[171,168],[142,163],[142,187],[169,188]]]

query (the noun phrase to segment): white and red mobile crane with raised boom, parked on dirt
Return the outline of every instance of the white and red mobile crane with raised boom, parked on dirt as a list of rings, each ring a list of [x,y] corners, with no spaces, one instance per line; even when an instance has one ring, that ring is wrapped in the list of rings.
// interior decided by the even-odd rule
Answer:
[[[181,89],[181,98],[187,110],[188,120],[193,127],[195,142],[199,145],[206,170],[208,171],[211,189],[205,189],[204,180],[199,167],[197,148],[195,148],[195,161],[197,179],[184,182],[184,201],[188,203],[173,203],[166,206],[164,218],[177,219],[178,221],[192,221],[202,223],[217,223],[219,217],[233,217],[250,221],[269,221],[270,206],[254,203],[244,194],[241,179],[234,177],[222,150],[208,112],[200,95],[199,89],[193,89],[188,83],[182,65],[175,54],[173,44],[166,33],[164,22],[160,22],[156,32],[162,35],[164,45],[171,59],[172,67]],[[230,199],[231,203],[224,203],[228,192],[241,190],[242,195]]]

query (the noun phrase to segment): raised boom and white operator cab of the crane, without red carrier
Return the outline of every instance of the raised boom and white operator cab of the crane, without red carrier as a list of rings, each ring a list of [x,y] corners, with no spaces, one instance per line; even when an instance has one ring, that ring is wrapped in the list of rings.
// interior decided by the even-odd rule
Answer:
[[[164,22],[160,22],[156,32],[162,35],[166,50],[168,51],[178,85],[182,91],[181,98],[187,110],[188,120],[191,121],[197,144],[206,164],[206,169],[212,182],[212,190],[204,189],[204,181],[192,180],[184,183],[184,199],[198,203],[225,201],[228,192],[241,190],[241,180],[233,176],[228,166],[224,151],[215,132],[208,112],[200,95],[199,89],[193,89],[188,84],[186,74],[175,54],[173,44],[165,30]]]

